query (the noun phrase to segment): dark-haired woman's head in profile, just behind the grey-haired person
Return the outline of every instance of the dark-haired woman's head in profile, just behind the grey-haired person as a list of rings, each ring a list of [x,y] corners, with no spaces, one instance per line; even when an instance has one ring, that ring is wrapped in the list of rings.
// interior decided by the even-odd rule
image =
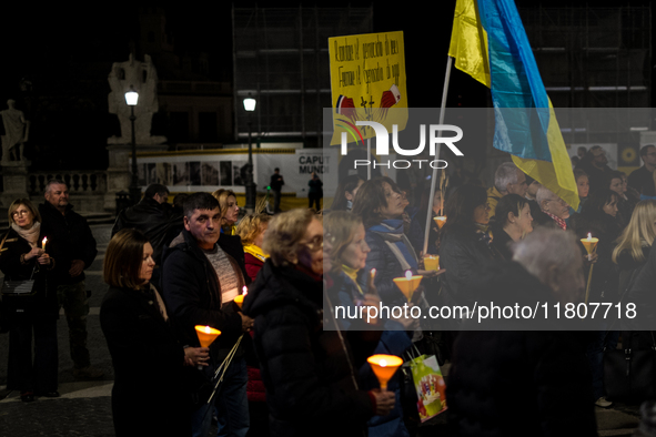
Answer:
[[[495,212],[496,222],[492,226],[494,240],[492,246],[501,258],[511,261],[513,252],[509,245],[533,232],[533,216],[526,197],[506,194],[498,201]]]

